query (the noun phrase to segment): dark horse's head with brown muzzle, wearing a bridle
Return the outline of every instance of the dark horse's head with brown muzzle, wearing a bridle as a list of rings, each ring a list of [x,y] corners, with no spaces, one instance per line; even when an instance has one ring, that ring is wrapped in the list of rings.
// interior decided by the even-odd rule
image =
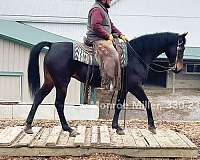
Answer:
[[[177,42],[171,44],[167,49],[166,56],[169,59],[170,66],[173,67],[173,72],[178,73],[183,68],[183,54],[185,50],[185,36],[187,33],[183,33],[178,35]]]

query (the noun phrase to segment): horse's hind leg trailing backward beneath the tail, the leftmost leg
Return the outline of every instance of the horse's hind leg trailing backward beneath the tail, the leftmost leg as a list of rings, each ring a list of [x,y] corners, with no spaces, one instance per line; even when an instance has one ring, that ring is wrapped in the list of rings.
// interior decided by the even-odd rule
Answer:
[[[47,73],[47,72],[46,72]],[[29,115],[26,119],[26,127],[24,131],[28,134],[32,134],[32,122],[33,118],[35,116],[36,110],[38,106],[42,103],[43,99],[51,92],[52,88],[54,87],[53,81],[49,74],[45,74],[45,82],[42,85],[42,87],[38,90],[34,97],[33,105],[31,107],[31,110],[29,112]]]

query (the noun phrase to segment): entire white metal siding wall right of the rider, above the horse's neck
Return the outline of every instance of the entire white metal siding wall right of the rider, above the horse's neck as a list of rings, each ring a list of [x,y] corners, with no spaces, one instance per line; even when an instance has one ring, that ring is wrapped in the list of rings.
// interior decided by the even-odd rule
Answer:
[[[189,32],[187,46],[194,47],[200,46],[199,6],[200,1],[188,0],[120,0],[110,8],[110,15],[129,39],[156,32]]]

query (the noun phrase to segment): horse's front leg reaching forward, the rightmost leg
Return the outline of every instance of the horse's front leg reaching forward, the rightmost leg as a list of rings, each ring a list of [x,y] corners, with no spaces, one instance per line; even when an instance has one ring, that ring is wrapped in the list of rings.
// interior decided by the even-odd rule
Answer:
[[[148,118],[148,129],[152,133],[156,133],[156,127],[154,125],[153,114],[151,110],[151,103],[147,98],[143,88],[140,85],[134,86],[132,89],[129,90],[135,97],[144,105],[147,111],[147,118]]]

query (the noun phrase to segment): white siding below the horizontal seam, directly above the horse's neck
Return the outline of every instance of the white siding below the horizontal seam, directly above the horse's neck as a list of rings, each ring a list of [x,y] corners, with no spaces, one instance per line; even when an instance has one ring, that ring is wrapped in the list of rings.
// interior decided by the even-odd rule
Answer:
[[[161,17],[112,17],[114,24],[126,34],[129,39],[157,32],[189,32],[187,35],[187,46],[200,46],[200,18],[199,19],[179,19],[179,18],[161,18]],[[124,22],[124,23],[122,23]],[[129,24],[127,24],[127,22]],[[191,25],[192,24],[192,25]]]

